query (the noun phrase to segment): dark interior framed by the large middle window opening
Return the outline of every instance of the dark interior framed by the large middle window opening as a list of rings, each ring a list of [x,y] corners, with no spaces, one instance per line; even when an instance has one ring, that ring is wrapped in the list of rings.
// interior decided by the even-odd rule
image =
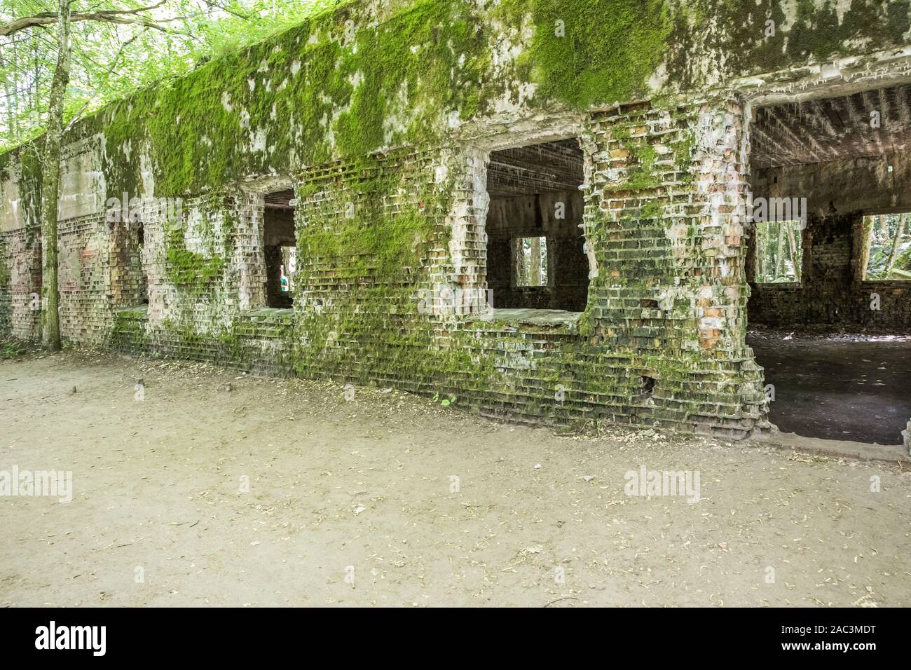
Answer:
[[[585,309],[583,179],[578,139],[491,152],[487,286],[496,308]]]

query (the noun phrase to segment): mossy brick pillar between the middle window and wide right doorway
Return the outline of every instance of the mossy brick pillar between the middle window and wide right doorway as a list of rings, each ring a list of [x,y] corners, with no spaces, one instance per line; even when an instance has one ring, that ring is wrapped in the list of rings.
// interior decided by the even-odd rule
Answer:
[[[730,438],[766,427],[762,370],[744,341],[741,106],[620,107],[594,115],[584,141],[597,266],[587,332],[625,359],[630,414]]]

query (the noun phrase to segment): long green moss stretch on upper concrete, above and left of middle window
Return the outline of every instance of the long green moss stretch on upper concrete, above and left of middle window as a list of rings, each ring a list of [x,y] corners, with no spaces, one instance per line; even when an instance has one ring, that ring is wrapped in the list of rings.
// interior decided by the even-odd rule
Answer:
[[[417,0],[379,25],[318,15],[84,122],[104,132],[108,192],[199,193],[243,174],[293,172],[440,136],[485,106],[488,27],[466,0]],[[87,129],[83,129],[87,131]]]

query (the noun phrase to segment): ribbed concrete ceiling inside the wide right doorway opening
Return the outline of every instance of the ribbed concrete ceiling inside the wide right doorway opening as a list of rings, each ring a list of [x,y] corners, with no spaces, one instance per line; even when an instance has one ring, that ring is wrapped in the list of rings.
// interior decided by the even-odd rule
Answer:
[[[878,128],[871,119],[878,113]],[[911,85],[756,110],[753,169],[883,156],[911,147]]]

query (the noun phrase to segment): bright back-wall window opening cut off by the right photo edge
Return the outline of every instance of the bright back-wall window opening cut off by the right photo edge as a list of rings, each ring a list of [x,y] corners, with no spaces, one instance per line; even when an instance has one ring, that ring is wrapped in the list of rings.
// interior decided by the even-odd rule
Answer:
[[[911,215],[874,214],[864,217],[867,282],[911,281]]]

